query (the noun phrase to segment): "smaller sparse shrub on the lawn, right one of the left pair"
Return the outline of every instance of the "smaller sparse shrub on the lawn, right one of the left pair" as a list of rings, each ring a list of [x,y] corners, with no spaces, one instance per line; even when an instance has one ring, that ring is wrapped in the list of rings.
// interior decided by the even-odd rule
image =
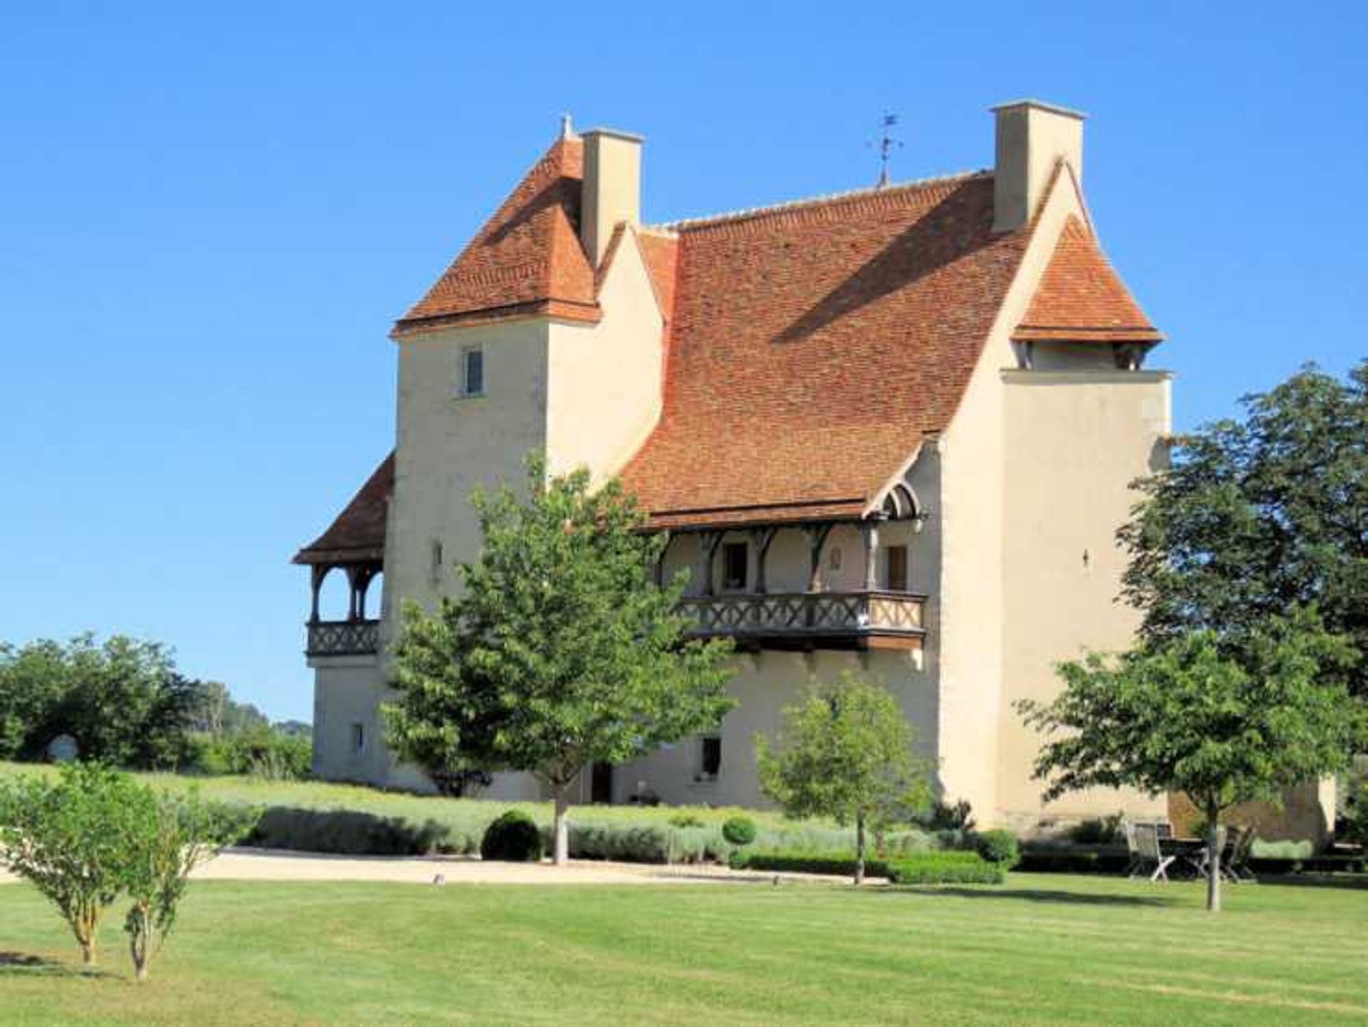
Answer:
[[[257,812],[205,803],[197,789],[182,796],[148,786],[138,789],[133,807],[119,883],[131,900],[123,929],[134,976],[145,981],[175,924],[190,872],[248,834]]]

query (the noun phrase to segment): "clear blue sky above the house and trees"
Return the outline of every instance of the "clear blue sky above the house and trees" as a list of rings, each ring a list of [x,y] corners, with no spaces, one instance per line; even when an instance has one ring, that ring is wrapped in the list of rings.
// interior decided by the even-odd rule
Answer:
[[[562,111],[646,134],[665,220],[870,183],[884,108],[902,179],[990,164],[993,103],[1074,105],[1179,427],[1368,356],[1360,4],[18,7],[0,639],[160,639],[275,717],[312,703],[287,561],[393,439],[386,332]]]

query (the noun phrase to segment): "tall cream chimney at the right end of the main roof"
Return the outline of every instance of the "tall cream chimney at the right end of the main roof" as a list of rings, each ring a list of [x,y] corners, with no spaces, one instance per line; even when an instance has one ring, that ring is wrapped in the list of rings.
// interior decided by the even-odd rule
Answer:
[[[1082,183],[1088,115],[1040,100],[1015,100],[990,109],[997,115],[993,231],[1011,231],[1036,213],[1060,157]]]

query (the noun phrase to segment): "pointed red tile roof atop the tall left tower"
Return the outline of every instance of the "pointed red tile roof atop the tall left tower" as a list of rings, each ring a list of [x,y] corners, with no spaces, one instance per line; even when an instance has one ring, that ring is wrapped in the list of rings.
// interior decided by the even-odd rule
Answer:
[[[557,139],[486,222],[395,335],[491,317],[598,320],[594,272],[580,245],[584,145]]]

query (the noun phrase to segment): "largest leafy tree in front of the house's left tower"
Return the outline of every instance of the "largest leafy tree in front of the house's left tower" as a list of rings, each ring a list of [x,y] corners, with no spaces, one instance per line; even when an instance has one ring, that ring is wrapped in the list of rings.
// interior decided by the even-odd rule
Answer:
[[[527,499],[472,498],[484,544],[435,615],[404,609],[386,706],[390,745],[436,779],[532,771],[555,803],[555,862],[569,853],[569,786],[715,726],[728,643],[687,637],[683,577],[651,583],[663,539],[616,480],[547,479],[528,459]]]

